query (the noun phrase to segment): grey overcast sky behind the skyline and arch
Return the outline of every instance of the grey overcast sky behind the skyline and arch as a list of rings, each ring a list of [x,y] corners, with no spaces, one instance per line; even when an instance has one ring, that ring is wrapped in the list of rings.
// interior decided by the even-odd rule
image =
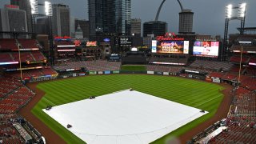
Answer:
[[[43,2],[43,0],[38,0]],[[53,3],[62,3],[70,6],[71,17],[88,19],[87,0],[50,0]],[[193,30],[197,34],[220,34],[223,37],[225,24],[225,6],[238,6],[241,2],[247,3],[246,26],[256,27],[256,0],[180,0],[184,9],[194,12]],[[0,7],[10,3],[10,0],[0,0]],[[142,22],[154,20],[158,6],[162,0],[131,0],[131,18],[141,18]],[[180,7],[177,0],[166,0],[158,20],[168,23],[168,30],[178,32],[178,13]],[[238,33],[236,27],[240,21],[230,21],[230,33]]]

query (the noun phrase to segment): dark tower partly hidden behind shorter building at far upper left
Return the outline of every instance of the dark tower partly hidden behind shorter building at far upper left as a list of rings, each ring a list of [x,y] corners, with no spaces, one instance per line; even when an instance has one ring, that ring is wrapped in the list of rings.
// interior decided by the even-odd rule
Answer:
[[[30,0],[10,0],[11,5],[19,6],[19,10],[26,11],[26,23],[28,32],[32,32],[32,16],[31,16],[31,6]]]

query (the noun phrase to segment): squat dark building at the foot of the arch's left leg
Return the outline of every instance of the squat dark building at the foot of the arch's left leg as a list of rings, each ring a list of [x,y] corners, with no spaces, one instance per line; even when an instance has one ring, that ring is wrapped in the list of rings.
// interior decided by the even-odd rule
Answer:
[[[167,32],[167,23],[161,21],[151,21],[143,23],[143,37],[154,34],[154,37],[164,35]]]

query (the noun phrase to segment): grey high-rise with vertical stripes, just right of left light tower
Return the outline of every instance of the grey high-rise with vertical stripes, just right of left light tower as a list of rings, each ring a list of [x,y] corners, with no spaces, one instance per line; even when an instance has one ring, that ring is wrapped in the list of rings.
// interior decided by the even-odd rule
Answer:
[[[53,34],[70,36],[70,8],[67,5],[53,5]]]

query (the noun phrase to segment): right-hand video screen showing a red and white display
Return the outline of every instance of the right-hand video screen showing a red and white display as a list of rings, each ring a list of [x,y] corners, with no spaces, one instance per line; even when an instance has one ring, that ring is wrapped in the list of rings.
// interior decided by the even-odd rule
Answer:
[[[194,42],[193,55],[198,57],[218,58],[219,42]]]

